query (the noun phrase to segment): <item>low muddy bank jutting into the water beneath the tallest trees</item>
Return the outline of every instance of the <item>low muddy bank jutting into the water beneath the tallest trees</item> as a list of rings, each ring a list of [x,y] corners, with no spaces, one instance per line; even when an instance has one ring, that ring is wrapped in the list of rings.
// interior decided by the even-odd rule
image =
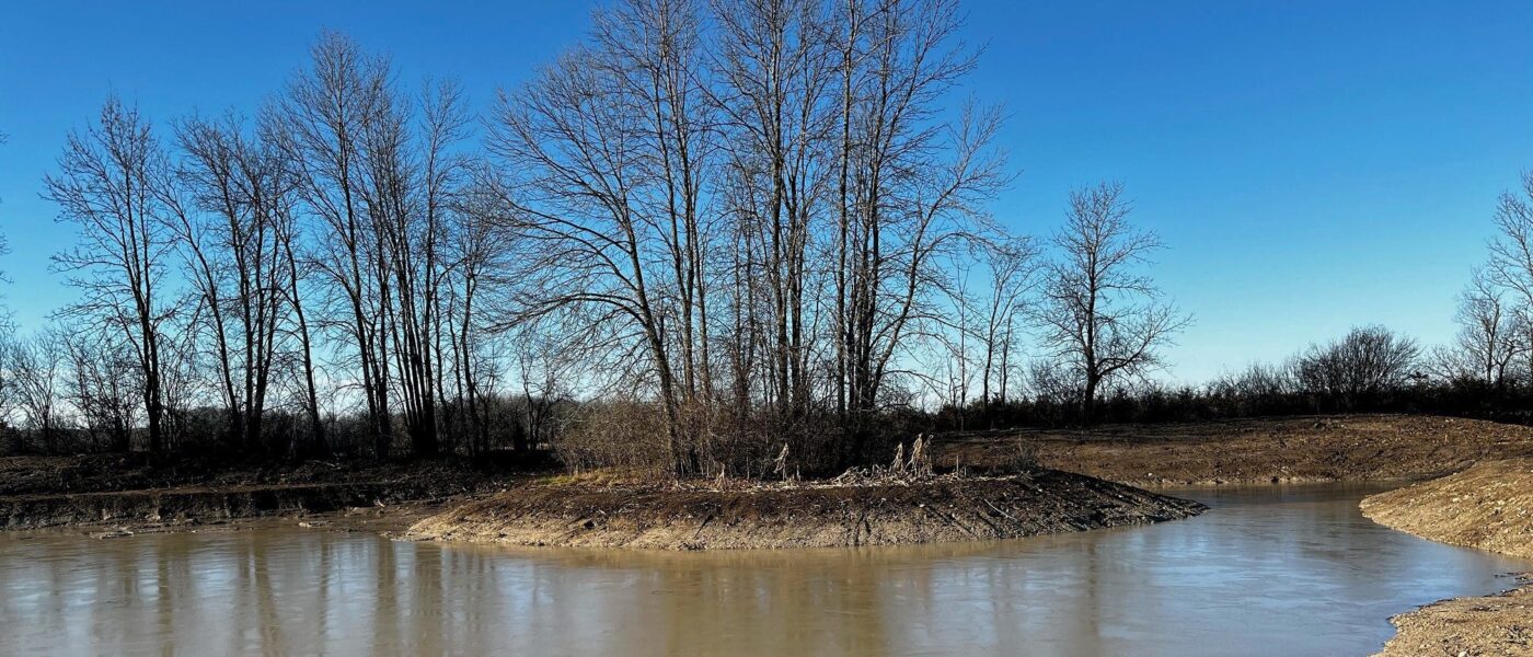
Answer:
[[[428,518],[415,539],[731,550],[989,541],[1194,516],[1205,507],[1036,470],[857,485],[609,489],[535,485]]]

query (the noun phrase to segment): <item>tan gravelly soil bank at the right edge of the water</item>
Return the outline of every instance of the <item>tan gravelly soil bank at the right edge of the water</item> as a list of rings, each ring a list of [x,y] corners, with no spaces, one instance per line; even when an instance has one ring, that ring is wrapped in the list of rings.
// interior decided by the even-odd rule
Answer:
[[[1372,521],[1433,541],[1533,559],[1533,459],[1489,461],[1363,501]],[[1381,655],[1533,655],[1533,585],[1400,614]]]

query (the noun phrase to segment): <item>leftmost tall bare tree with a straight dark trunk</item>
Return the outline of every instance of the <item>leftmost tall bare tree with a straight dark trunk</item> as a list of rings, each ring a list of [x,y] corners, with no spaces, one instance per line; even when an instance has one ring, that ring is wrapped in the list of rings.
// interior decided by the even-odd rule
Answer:
[[[172,234],[166,227],[166,159],[136,109],[109,98],[86,133],[72,133],[44,196],[74,224],[80,242],[54,256],[83,299],[66,314],[106,322],[132,346],[143,378],[149,450],[164,429],[161,326],[172,315],[164,279]]]

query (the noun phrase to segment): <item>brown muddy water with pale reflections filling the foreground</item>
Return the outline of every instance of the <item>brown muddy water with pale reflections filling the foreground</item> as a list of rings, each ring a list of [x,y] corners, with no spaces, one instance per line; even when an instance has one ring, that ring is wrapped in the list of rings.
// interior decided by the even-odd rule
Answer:
[[[0,654],[1344,655],[1380,648],[1390,614],[1533,570],[1372,524],[1357,502],[1378,490],[1183,490],[1213,510],[872,550],[529,550],[291,524],[11,533]]]

